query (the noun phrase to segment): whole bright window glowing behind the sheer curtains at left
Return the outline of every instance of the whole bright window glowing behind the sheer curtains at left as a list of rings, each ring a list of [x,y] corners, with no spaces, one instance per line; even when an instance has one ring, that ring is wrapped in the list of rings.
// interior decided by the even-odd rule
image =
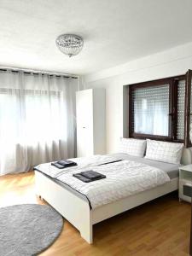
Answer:
[[[9,133],[7,142],[23,144],[25,138],[27,145],[33,145],[67,139],[63,91],[17,89],[14,92],[0,89],[1,133]]]

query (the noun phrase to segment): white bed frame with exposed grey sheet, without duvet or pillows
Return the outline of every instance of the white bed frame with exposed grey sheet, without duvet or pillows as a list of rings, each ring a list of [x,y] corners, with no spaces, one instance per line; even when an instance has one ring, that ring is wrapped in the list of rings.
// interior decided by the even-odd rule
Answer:
[[[147,189],[135,195],[129,195],[116,201],[111,201],[99,207],[90,207],[90,201],[75,189],[61,181],[49,177],[46,173],[35,170],[36,194],[47,201],[56,211],[66,218],[79,231],[88,243],[93,242],[93,225],[104,219],[111,218],[133,207],[152,201],[161,195],[166,195],[178,189],[179,165],[163,163],[131,156],[129,154],[113,154],[113,157],[122,160],[137,161],[138,163],[154,166],[165,171],[170,182]],[[181,163],[191,163],[191,149],[184,148]]]

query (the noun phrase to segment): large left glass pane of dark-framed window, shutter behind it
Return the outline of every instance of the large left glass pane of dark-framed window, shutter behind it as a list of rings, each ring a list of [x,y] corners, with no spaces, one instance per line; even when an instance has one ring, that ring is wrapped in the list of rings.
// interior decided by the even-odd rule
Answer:
[[[137,88],[132,102],[135,133],[168,136],[169,84]]]

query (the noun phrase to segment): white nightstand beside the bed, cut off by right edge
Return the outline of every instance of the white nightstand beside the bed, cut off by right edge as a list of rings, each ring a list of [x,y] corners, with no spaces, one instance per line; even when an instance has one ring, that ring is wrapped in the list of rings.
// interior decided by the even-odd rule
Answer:
[[[179,201],[191,202],[192,196],[192,165],[182,166],[179,168]]]

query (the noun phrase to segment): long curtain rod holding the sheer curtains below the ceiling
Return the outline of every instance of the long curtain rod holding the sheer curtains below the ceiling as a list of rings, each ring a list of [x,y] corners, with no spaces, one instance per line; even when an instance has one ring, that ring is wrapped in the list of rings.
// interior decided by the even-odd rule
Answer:
[[[23,73],[42,73],[42,74],[48,74],[48,75],[55,75],[58,77],[64,77],[66,79],[79,79],[78,76],[71,75],[71,74],[64,74],[64,73],[54,73],[54,72],[49,72],[49,71],[43,71],[43,70],[35,70],[35,69],[29,69],[29,68],[19,68],[19,67],[0,67],[0,71],[7,71],[10,70],[12,72],[20,72],[22,71]]]

